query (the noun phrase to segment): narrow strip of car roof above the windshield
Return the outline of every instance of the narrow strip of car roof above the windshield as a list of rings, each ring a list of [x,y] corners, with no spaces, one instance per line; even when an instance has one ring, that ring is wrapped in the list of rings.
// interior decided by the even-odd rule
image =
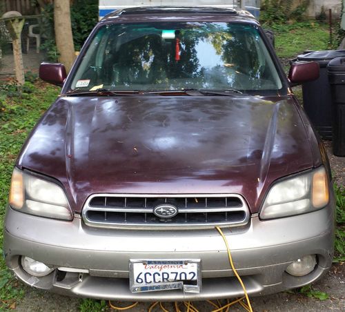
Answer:
[[[140,6],[132,8],[122,8],[115,10],[101,19],[101,22],[114,21],[121,19],[121,21],[136,20],[138,18],[161,20],[167,17],[198,18],[208,17],[208,19],[224,19],[241,20],[249,23],[259,24],[258,21],[248,11],[235,10],[232,8],[219,8],[207,6]]]

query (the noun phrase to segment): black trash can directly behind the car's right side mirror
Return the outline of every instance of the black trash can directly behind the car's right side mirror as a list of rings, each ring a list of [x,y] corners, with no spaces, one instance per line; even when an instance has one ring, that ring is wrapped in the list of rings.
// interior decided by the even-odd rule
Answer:
[[[323,139],[332,139],[331,86],[327,65],[335,57],[345,57],[345,50],[304,52],[296,61],[316,61],[320,66],[319,79],[302,84],[304,110]]]

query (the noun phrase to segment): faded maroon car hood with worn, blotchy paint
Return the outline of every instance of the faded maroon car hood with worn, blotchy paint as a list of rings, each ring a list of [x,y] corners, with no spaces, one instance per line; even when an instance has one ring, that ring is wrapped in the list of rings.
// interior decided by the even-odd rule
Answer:
[[[61,97],[17,165],[92,193],[237,193],[256,212],[277,178],[313,167],[289,97]]]

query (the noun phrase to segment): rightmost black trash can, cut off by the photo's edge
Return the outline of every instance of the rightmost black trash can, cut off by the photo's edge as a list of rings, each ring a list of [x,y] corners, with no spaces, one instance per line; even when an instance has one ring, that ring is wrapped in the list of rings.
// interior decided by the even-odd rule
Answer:
[[[345,57],[333,59],[327,68],[333,100],[333,154],[345,156]]]

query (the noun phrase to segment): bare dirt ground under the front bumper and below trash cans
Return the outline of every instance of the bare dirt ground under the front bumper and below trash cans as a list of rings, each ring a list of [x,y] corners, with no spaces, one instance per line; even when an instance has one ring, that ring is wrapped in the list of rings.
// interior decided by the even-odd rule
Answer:
[[[328,157],[331,162],[335,182],[345,185],[345,157],[336,157],[332,154],[332,142],[324,142]],[[78,298],[63,297],[45,291],[31,289],[25,286],[26,294],[23,300],[17,305],[17,311],[79,311],[81,302]],[[334,264],[327,275],[313,285],[315,291],[328,293],[328,300],[307,298],[295,291],[276,293],[257,298],[250,298],[254,311],[261,312],[292,312],[292,311],[345,311],[345,264]],[[144,312],[150,304],[140,303],[129,311]],[[164,304],[168,311],[175,311],[171,304]],[[195,306],[199,311],[212,311],[212,306],[207,302],[196,302]],[[155,309],[154,311],[159,311]],[[244,311],[235,305],[230,311]],[[90,311],[92,312],[92,311]]]

